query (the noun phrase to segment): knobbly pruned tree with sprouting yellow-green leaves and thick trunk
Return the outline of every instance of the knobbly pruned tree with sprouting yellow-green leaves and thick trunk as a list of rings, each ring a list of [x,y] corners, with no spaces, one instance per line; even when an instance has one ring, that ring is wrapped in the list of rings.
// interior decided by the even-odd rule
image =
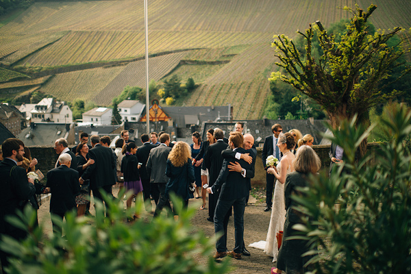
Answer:
[[[338,39],[328,34],[319,21],[314,27],[310,25],[305,33],[299,32],[305,40],[305,56],[299,53],[290,38],[276,36],[273,41],[275,56],[279,58],[276,64],[284,68],[286,74],[272,73],[271,81],[279,79],[314,99],[327,112],[333,127],[356,114],[356,123],[369,125],[369,108],[398,95],[396,90],[382,95],[382,88],[390,84],[384,83],[383,86],[382,81],[394,68],[405,64],[401,59],[403,40],[394,47],[387,45],[390,38],[401,32],[401,27],[371,35],[367,21],[376,8],[370,5],[365,12],[358,5],[356,10],[345,8],[353,13],[353,18],[346,25],[347,32]],[[312,53],[314,29],[318,29],[317,38],[323,51],[318,59]],[[402,71],[399,78],[408,73],[410,68]],[[366,140],[360,151],[364,155]]]

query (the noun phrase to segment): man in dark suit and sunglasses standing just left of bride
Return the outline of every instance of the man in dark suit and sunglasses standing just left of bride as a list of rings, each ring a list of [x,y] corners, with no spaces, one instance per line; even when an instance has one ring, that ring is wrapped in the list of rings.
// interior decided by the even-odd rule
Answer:
[[[266,158],[269,155],[274,155],[275,158],[281,160],[281,154],[279,148],[277,147],[278,136],[282,132],[282,126],[279,124],[273,125],[271,127],[273,135],[266,136],[264,140],[264,147],[262,147],[262,164],[264,169],[267,169]],[[273,189],[274,189],[275,176],[273,174],[266,173],[266,208],[264,211],[271,210],[273,204]]]

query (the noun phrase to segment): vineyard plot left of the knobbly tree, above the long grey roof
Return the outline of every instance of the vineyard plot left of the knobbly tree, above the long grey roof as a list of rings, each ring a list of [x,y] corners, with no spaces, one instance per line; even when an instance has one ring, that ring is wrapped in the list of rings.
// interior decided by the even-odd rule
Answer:
[[[274,69],[270,45],[254,45],[209,77],[195,90],[187,105],[234,106],[234,119],[258,119],[269,92]]]

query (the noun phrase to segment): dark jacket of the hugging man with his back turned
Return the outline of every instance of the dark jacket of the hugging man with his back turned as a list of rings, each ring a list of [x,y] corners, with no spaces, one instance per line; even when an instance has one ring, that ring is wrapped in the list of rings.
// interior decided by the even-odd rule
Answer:
[[[236,149],[238,153],[245,153],[245,149],[239,147]],[[237,160],[243,169],[251,169],[251,164],[245,162],[245,160]],[[223,161],[223,167],[219,173],[219,177],[211,187],[212,192],[216,193],[220,189],[219,199],[234,200],[247,197],[249,195],[249,186],[247,184],[247,178],[242,177],[241,173],[229,172],[228,169],[229,160]]]

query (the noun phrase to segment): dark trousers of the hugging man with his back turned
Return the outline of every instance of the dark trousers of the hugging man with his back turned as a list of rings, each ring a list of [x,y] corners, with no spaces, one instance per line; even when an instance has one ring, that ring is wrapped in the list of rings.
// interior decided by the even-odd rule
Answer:
[[[219,199],[216,206],[216,212],[214,214],[214,231],[215,233],[225,232],[219,240],[216,242],[217,252],[227,251],[227,227],[224,227],[225,219],[227,218],[227,212],[229,209],[234,208],[234,229],[236,239],[236,245],[234,247],[235,253],[242,253],[244,247],[244,209],[245,209],[245,197],[234,200],[222,200]]]

